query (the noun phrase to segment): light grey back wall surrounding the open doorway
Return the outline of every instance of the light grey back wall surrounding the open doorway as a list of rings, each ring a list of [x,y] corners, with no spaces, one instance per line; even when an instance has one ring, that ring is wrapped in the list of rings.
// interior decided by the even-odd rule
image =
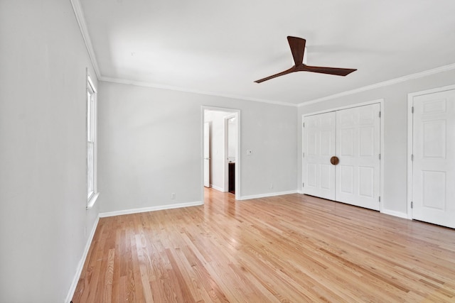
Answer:
[[[103,212],[201,201],[204,105],[241,110],[242,196],[296,190],[295,107],[110,82],[99,92]]]

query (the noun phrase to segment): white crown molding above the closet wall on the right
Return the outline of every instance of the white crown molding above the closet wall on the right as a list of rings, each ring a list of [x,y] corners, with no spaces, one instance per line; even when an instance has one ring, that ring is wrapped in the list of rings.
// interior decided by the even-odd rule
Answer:
[[[450,65],[444,65],[444,66],[437,67],[437,68],[433,68],[432,70],[425,70],[424,72],[417,72],[415,74],[407,75],[407,76],[404,76],[404,77],[399,77],[399,78],[390,79],[390,80],[383,81],[383,82],[378,82],[378,83],[375,83],[375,84],[367,85],[365,87],[359,87],[358,89],[352,89],[350,91],[341,92],[339,94],[332,94],[332,95],[327,96],[327,97],[323,97],[323,98],[314,99],[314,100],[311,100],[311,101],[302,102],[302,103],[298,104],[297,106],[298,107],[306,106],[306,105],[310,105],[310,104],[319,103],[319,102],[322,102],[322,101],[327,101],[327,100],[331,100],[331,99],[335,99],[335,98],[339,98],[339,97],[348,96],[350,94],[357,94],[359,92],[365,92],[365,91],[368,91],[370,89],[377,89],[377,88],[380,88],[380,87],[387,87],[387,86],[392,85],[392,84],[397,84],[397,83],[406,82],[406,81],[409,81],[409,80],[412,80],[412,79],[418,79],[418,78],[422,78],[422,77],[427,77],[429,75],[438,74],[439,72],[447,72],[449,70],[455,70],[455,63],[454,64],[450,64]]]

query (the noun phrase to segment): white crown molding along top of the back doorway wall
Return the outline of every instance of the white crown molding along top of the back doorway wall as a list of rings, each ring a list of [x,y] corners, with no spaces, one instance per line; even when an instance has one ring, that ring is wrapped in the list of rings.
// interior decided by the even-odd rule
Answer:
[[[207,96],[224,97],[224,98],[237,99],[237,100],[255,101],[255,102],[268,103],[268,104],[297,107],[297,104],[294,104],[294,103],[242,97],[242,96],[237,96],[234,94],[219,94],[219,93],[215,93],[215,92],[200,91],[198,89],[186,89],[183,87],[173,87],[171,85],[163,85],[163,84],[156,84],[156,83],[150,83],[150,82],[139,82],[139,81],[133,81],[133,80],[128,80],[128,79],[120,79],[120,78],[105,77],[105,76],[100,77],[100,80],[105,81],[105,82],[118,83],[118,84],[136,85],[138,87],[168,89],[168,90],[177,91],[177,92],[189,92],[192,94],[203,94],[203,95],[207,95]]]

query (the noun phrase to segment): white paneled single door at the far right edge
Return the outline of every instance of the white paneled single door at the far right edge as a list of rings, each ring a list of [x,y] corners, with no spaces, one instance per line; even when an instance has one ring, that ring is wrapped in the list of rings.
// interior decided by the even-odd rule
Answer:
[[[455,90],[413,106],[412,219],[455,228]]]

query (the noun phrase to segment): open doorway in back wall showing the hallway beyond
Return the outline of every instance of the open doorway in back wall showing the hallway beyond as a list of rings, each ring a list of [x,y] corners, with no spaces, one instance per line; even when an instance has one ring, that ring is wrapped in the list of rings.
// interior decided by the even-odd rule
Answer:
[[[202,125],[203,187],[240,199],[240,110],[203,106]]]

